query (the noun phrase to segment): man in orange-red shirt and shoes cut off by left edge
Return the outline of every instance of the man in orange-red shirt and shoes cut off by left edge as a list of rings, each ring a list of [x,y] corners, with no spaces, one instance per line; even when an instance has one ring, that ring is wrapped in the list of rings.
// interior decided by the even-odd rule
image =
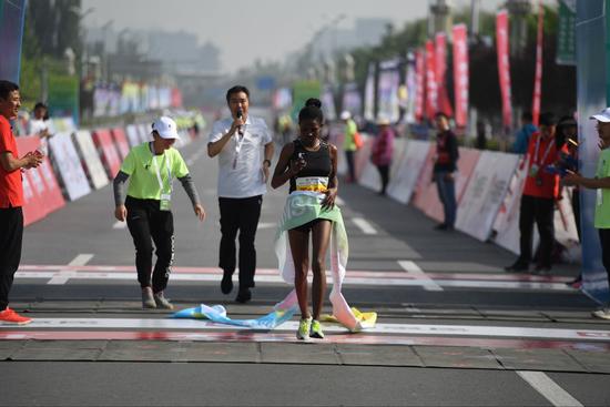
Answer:
[[[21,106],[19,87],[0,80],[0,323],[28,324],[26,318],[9,308],[9,292],[21,261],[23,237],[22,169],[42,162],[42,154],[29,152],[21,159],[9,120],[17,119]]]

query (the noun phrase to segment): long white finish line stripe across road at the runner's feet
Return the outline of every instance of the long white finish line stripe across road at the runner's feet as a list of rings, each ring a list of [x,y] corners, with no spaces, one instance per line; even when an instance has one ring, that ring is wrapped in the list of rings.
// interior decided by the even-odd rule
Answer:
[[[323,324],[327,334],[347,334],[347,329],[335,324]],[[14,325],[0,324],[2,330],[14,330]],[[289,332],[293,334],[298,327],[297,320],[288,320],[273,333]],[[26,334],[32,329],[185,329],[185,330],[237,330],[252,332],[250,328],[215,324],[205,319],[177,318],[33,318],[29,325],[20,326],[19,330]],[[0,330],[1,332],[1,330]],[[368,334],[395,335],[434,335],[457,337],[501,337],[501,338],[531,338],[551,340],[590,340],[610,345],[610,330],[600,329],[567,329],[567,328],[533,328],[516,326],[481,326],[481,325],[427,325],[427,324],[377,324],[374,328],[365,329]],[[350,334],[359,337],[360,334]]]

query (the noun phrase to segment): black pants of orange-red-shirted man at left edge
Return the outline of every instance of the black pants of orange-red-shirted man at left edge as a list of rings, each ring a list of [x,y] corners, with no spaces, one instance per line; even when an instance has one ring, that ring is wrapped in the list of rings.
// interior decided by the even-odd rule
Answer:
[[[21,207],[0,208],[0,311],[9,306],[9,293],[21,261],[22,241]]]

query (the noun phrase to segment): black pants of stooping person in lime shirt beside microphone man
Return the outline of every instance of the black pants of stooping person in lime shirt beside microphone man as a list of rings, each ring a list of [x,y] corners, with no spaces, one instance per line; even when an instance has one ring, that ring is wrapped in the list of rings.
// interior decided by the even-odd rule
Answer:
[[[128,227],[135,245],[135,268],[140,286],[152,285],[154,293],[167,286],[174,263],[174,218],[170,211],[159,208],[160,201],[128,196]],[[156,263],[152,268],[153,242]],[[152,284],[151,284],[152,269]]]

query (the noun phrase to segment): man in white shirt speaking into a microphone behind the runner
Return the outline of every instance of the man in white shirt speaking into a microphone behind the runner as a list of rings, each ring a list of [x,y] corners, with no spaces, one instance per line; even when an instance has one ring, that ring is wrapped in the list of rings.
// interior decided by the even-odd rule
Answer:
[[[207,155],[218,156],[218,206],[221,210],[221,248],[218,267],[223,269],[221,291],[233,289],[236,266],[235,237],[240,232],[240,291],[235,298],[252,298],[256,269],[254,237],[261,217],[263,195],[267,191],[273,141],[260,118],[248,115],[250,91],[233,87],[226,92],[231,118],[218,120],[212,128]]]

